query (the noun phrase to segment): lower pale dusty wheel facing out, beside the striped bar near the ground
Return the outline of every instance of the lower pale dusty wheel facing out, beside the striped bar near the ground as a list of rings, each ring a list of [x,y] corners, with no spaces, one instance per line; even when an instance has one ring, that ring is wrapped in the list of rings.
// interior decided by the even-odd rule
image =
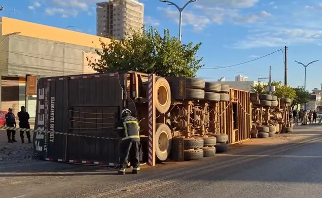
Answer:
[[[156,124],[156,155],[164,161],[171,152],[172,135],[171,129],[166,124]]]

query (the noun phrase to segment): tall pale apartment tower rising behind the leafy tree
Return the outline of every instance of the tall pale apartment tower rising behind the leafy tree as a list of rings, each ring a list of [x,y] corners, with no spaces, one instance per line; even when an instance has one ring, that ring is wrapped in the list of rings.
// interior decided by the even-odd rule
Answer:
[[[117,39],[131,34],[130,28],[141,31],[144,4],[137,0],[110,0],[96,4],[97,36],[113,36]]]

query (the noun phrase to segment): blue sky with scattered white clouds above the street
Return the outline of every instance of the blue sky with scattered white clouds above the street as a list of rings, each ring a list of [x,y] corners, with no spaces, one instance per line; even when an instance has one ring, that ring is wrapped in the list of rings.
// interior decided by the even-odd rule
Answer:
[[[158,0],[145,4],[145,24],[159,31],[167,28],[178,36],[178,10]],[[19,0],[1,1],[1,16],[40,23],[86,34],[96,34],[96,0]],[[172,0],[179,7],[188,0]],[[234,81],[238,74],[248,81],[269,76],[284,82],[284,46],[288,47],[288,85],[304,86],[307,64],[308,90],[320,88],[322,58],[322,0],[198,0],[183,11],[182,42],[202,43],[198,52],[205,67],[197,77]],[[279,51],[277,51],[279,50]],[[269,56],[234,67],[233,64]],[[221,68],[222,67],[222,68]],[[267,80],[263,80],[267,82]],[[237,88],[237,87],[236,87]]]

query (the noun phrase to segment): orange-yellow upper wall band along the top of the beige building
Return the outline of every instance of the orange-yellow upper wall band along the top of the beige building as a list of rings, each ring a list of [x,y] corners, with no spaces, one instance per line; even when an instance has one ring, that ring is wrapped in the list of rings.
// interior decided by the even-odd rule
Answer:
[[[111,42],[111,40],[107,38],[88,35],[77,31],[2,17],[1,34],[8,35],[13,32],[21,32],[19,34],[21,36],[70,43],[92,48],[101,48],[98,41],[99,38],[105,44],[109,44]]]

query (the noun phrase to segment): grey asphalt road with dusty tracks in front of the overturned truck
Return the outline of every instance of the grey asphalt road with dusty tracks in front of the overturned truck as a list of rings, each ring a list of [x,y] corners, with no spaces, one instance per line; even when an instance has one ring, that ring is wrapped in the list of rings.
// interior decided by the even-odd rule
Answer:
[[[31,161],[0,167],[0,197],[321,197],[322,127],[253,139],[198,161],[143,167],[139,175]]]

